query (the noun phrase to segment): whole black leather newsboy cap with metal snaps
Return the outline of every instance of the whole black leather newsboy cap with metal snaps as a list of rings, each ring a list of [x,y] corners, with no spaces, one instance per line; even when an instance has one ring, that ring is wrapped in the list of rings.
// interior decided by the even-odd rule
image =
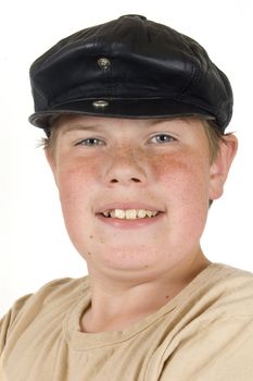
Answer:
[[[50,130],[61,114],[199,116],[224,132],[232,114],[226,75],[193,39],[140,15],[64,38],[30,66],[35,113]]]

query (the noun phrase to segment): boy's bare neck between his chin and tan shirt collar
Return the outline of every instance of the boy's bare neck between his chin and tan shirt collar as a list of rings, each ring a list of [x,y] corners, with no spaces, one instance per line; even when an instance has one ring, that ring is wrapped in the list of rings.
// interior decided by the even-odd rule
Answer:
[[[188,265],[188,267],[187,267]],[[80,321],[83,332],[118,331],[162,308],[210,265],[202,251],[194,260],[155,280],[131,284],[101,282],[91,276],[91,307]],[[185,268],[185,269],[184,269]]]

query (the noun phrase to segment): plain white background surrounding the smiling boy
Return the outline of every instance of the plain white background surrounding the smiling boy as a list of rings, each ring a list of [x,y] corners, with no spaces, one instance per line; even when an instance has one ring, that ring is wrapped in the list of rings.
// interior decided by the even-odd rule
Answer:
[[[27,122],[29,65],[61,38],[130,13],[193,37],[230,78],[229,131],[237,132],[239,152],[202,246],[213,261],[253,271],[252,0],[9,0],[0,9],[0,315],[52,279],[87,272],[65,232],[43,151],[36,148],[42,133]]]

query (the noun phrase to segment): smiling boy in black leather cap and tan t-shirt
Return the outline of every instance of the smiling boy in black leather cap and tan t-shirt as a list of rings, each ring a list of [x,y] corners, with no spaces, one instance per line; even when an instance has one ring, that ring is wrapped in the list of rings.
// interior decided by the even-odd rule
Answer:
[[[189,37],[126,15],[60,41],[30,78],[89,276],[16,302],[1,380],[252,380],[253,276],[200,247],[237,150],[225,74]]]

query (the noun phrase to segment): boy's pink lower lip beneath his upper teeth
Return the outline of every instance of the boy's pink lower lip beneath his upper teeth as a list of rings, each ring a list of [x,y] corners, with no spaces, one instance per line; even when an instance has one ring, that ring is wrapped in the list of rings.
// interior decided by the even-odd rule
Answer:
[[[103,223],[111,225],[113,228],[119,228],[119,229],[146,228],[159,222],[163,218],[163,216],[164,213],[160,212],[157,216],[152,218],[127,220],[127,219],[106,218],[102,214],[97,214],[98,219]]]

